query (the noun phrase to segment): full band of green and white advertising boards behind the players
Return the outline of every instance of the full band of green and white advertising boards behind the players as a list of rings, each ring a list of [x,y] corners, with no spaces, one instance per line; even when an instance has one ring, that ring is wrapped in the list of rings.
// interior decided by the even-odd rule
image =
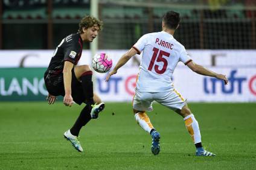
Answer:
[[[9,51],[10,52],[10,51]],[[22,54],[23,52],[23,54]],[[37,57],[22,58],[27,53]],[[107,51],[114,63],[124,51]],[[203,77],[179,64],[173,74],[174,87],[190,102],[255,102],[256,67],[255,51],[188,51],[197,63],[213,71],[226,74],[228,86],[216,78]],[[226,52],[226,53],[225,53]],[[0,53],[0,101],[40,101],[48,92],[45,89],[43,73],[50,62],[53,51],[7,51]],[[200,55],[199,55],[200,53]],[[211,54],[216,55],[211,55]],[[2,56],[1,56],[2,55]],[[89,64],[89,51],[85,51],[82,62]],[[31,55],[25,55],[31,56]],[[194,57],[199,56],[199,57]],[[6,59],[4,58],[6,57]],[[138,56],[137,56],[138,57]],[[136,57],[136,58],[137,58]],[[85,59],[86,58],[86,59]],[[202,60],[203,58],[203,60]],[[245,58],[245,59],[241,59]],[[8,60],[19,61],[5,65]],[[139,57],[138,57],[139,60]],[[108,83],[106,74],[95,73],[96,92],[103,101],[132,101],[135,80],[138,73],[138,60],[129,61]],[[32,64],[34,63],[34,65]],[[29,68],[31,65],[37,68]],[[114,64],[115,65],[115,64]],[[28,68],[19,68],[19,66]],[[13,67],[13,68],[11,68]],[[38,68],[41,67],[41,68]]]

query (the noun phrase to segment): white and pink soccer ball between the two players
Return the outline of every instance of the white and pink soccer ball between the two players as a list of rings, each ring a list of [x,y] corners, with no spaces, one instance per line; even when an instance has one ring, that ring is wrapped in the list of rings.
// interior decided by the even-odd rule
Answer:
[[[108,72],[112,67],[112,59],[106,53],[99,53],[92,58],[92,68],[100,73]]]

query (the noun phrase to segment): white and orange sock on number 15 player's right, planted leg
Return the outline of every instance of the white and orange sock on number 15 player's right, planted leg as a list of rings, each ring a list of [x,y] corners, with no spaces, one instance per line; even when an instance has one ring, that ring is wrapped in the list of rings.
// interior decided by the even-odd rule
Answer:
[[[199,129],[199,124],[196,121],[196,118],[194,118],[193,114],[190,114],[184,118],[185,125],[187,127],[188,133],[190,133],[190,136],[192,137],[192,140],[194,143],[201,143],[201,134]]]

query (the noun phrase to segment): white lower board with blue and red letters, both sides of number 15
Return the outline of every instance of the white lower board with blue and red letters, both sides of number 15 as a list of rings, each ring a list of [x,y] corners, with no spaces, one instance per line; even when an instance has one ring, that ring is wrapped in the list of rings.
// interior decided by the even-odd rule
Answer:
[[[194,73],[186,66],[176,68],[173,81],[188,102],[256,102],[256,68],[210,68],[226,74],[228,85]],[[106,74],[97,74],[97,93],[103,101],[132,101],[137,68],[121,68],[108,83]]]

